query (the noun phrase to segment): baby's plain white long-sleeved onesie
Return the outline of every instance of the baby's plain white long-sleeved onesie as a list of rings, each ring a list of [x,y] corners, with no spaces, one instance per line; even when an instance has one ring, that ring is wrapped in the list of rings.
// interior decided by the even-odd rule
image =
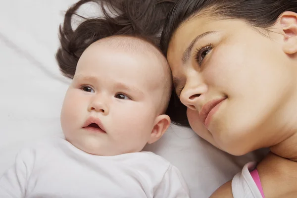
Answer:
[[[0,198],[189,198],[180,171],[152,152],[97,156],[64,139],[20,151]]]

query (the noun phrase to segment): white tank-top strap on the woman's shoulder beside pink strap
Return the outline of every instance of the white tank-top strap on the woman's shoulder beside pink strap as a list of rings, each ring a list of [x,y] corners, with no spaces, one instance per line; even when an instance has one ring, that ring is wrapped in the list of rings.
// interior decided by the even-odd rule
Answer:
[[[262,195],[252,179],[250,172],[256,163],[247,163],[242,172],[237,173],[232,179],[232,194],[234,198],[262,198]]]

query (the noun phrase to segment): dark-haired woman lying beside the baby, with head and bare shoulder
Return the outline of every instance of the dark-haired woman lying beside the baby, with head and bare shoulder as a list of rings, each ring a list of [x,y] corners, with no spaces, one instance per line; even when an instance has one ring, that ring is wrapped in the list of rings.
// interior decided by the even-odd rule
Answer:
[[[199,136],[233,155],[270,148],[213,197],[296,197],[297,0],[181,0],[161,48]]]

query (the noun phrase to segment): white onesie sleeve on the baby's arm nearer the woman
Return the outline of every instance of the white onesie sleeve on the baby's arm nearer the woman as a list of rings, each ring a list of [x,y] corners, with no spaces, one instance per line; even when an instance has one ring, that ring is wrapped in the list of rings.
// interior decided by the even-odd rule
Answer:
[[[154,198],[190,198],[190,192],[181,172],[170,165],[158,188]]]

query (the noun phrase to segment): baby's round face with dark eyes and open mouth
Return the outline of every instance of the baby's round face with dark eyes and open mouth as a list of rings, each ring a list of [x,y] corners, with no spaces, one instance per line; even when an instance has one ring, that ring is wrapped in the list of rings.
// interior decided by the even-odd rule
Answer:
[[[96,155],[140,151],[153,136],[170,79],[160,57],[118,41],[100,40],[86,49],[62,107],[66,140]]]

